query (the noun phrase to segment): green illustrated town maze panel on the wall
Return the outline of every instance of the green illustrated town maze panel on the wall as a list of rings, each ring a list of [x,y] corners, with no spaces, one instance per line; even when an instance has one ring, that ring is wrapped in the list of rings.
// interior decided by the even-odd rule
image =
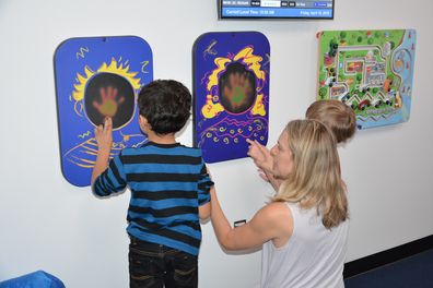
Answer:
[[[324,31],[318,38],[318,99],[351,106],[359,129],[409,120],[414,29]]]

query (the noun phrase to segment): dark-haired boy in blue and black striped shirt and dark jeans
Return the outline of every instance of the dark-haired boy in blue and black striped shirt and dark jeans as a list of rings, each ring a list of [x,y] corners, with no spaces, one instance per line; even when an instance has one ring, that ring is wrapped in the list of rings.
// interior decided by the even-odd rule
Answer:
[[[176,143],[190,116],[191,94],[179,82],[153,81],[138,97],[140,128],[149,142],[125,148],[108,165],[112,119],[95,129],[98,145],[92,173],[96,195],[126,187],[130,287],[197,287],[201,242],[199,218],[210,215],[213,185],[201,151]]]

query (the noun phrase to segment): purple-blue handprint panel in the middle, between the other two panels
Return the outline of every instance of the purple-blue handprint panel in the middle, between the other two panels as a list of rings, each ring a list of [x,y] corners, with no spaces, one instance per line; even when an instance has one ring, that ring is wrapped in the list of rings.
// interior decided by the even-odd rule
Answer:
[[[258,32],[207,33],[194,46],[194,143],[207,163],[268,142],[270,46]]]

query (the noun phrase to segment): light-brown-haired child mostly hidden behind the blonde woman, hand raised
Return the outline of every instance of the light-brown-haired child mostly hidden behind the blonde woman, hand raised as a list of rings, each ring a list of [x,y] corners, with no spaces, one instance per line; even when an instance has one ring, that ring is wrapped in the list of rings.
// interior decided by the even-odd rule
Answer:
[[[356,131],[356,116],[351,107],[340,100],[316,100],[307,108],[306,119],[317,120],[324,123],[333,134],[337,144],[351,139]],[[260,177],[269,181],[278,191],[281,181],[273,178],[272,156],[270,151],[257,141],[247,140],[249,143],[248,156],[253,158],[260,169]]]

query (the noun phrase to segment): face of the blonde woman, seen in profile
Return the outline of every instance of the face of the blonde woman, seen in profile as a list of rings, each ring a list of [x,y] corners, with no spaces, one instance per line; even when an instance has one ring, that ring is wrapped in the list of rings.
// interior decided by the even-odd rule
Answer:
[[[277,144],[271,148],[271,155],[273,158],[273,177],[286,179],[292,171],[293,159],[292,152],[289,148],[289,134],[285,130],[281,133]]]

